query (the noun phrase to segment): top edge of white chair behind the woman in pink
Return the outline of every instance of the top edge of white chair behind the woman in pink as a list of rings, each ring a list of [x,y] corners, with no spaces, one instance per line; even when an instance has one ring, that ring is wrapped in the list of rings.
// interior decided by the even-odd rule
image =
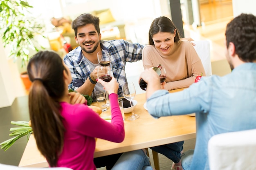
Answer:
[[[27,168],[0,163],[0,170],[72,170],[71,168]]]

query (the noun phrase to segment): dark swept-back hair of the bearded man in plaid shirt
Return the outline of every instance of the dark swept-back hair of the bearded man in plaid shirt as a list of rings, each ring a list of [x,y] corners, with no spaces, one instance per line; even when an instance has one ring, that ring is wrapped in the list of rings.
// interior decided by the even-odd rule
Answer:
[[[99,17],[93,16],[90,13],[83,13],[78,17],[76,17],[75,20],[72,21],[72,29],[74,29],[76,37],[77,37],[77,28],[79,26],[85,26],[86,24],[93,24],[98,34],[100,34]]]

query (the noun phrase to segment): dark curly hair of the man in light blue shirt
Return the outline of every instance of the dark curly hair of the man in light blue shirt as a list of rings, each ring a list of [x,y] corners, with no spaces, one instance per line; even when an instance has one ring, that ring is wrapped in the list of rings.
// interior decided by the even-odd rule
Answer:
[[[256,16],[242,13],[227,24],[227,48],[234,43],[236,54],[244,62],[256,61]]]

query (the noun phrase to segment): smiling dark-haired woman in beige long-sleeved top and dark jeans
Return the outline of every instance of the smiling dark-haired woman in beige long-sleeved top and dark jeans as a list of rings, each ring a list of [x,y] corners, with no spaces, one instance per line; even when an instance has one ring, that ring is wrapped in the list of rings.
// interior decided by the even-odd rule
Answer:
[[[186,88],[195,82],[195,77],[205,75],[204,67],[193,45],[180,40],[173,22],[167,17],[156,18],[149,29],[149,45],[142,51],[144,69],[161,64],[166,69],[166,90]],[[160,83],[160,82],[159,82]],[[172,170],[183,170],[181,155],[184,141],[151,147],[173,161]]]

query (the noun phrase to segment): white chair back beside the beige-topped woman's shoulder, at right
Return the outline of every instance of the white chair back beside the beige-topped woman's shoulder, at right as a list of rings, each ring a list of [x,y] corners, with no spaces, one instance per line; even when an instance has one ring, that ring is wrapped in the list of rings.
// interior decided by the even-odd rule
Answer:
[[[192,41],[192,42],[195,43],[194,48],[202,61],[206,76],[212,75],[210,42],[208,40],[199,40],[199,41]]]

